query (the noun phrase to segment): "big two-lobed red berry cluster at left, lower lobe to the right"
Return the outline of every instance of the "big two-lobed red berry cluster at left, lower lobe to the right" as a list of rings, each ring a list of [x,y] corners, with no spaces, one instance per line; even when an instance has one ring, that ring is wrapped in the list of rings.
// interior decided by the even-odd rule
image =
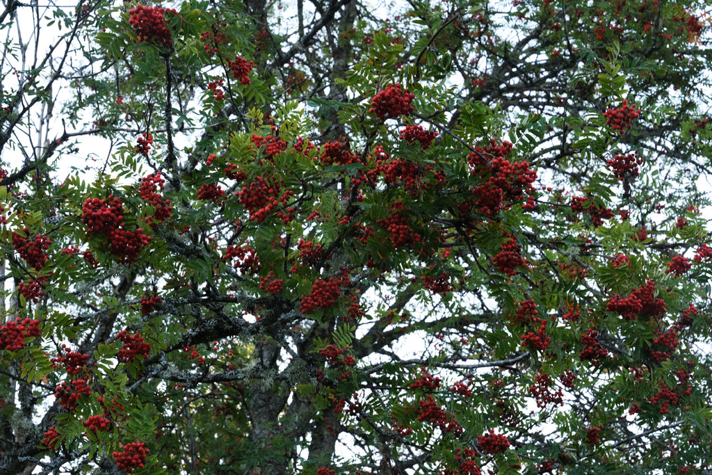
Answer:
[[[143,229],[126,231],[124,210],[121,200],[110,195],[107,199],[89,198],[84,202],[82,221],[88,232],[104,234],[109,241],[111,254],[119,257],[122,263],[131,263],[138,259],[140,251],[151,241],[143,234]]]

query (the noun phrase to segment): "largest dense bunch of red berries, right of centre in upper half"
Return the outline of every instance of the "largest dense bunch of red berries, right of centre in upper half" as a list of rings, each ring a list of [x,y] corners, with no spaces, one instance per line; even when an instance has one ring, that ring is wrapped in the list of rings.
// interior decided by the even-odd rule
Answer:
[[[498,144],[496,140],[491,140],[488,147],[476,147],[467,157],[473,175],[484,181],[472,190],[477,198],[475,206],[489,218],[502,209],[509,209],[511,203],[523,202],[525,194],[526,202],[522,207],[535,207],[532,184],[537,174],[526,161],[511,163],[506,159],[512,147],[511,142]]]

